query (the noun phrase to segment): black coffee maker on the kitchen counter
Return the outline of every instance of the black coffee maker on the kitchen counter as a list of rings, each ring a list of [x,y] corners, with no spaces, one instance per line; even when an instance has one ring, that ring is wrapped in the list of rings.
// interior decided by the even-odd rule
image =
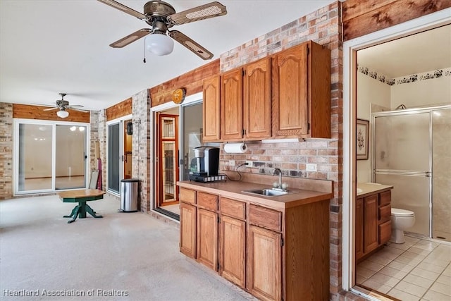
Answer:
[[[195,147],[190,174],[194,176],[217,176],[219,171],[218,147]]]

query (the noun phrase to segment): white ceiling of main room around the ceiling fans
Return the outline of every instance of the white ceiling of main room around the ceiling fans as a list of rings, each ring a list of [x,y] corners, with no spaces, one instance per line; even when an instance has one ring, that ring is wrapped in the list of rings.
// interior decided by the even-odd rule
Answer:
[[[211,1],[167,0],[180,12]],[[209,49],[213,59],[333,2],[219,0],[227,15],[173,29]],[[143,11],[146,1],[121,1]],[[149,25],[99,1],[0,1],[0,101],[105,109],[209,63],[175,42],[168,56],[146,54],[144,39],[109,44]]]

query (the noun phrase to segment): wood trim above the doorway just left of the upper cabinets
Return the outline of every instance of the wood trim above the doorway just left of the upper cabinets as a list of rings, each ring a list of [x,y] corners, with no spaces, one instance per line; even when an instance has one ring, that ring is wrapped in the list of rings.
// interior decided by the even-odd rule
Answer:
[[[161,85],[152,87],[149,89],[151,106],[171,102],[171,94],[173,90],[178,88],[185,88],[186,96],[202,92],[202,82],[204,79],[217,74],[219,74],[219,59],[191,70],[177,78],[163,82]]]

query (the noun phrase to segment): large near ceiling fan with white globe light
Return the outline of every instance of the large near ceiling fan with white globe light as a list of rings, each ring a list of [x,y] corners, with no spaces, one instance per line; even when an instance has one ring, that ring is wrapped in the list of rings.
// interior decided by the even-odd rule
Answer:
[[[182,32],[179,32],[178,30],[168,30],[168,28],[173,27],[173,25],[182,25],[208,18],[224,16],[227,13],[226,6],[223,6],[216,1],[190,8],[186,11],[180,11],[180,13],[175,13],[173,6],[163,1],[147,2],[144,4],[144,13],[135,11],[114,0],[98,1],[123,11],[124,13],[128,13],[138,19],[144,20],[151,26],[151,28],[142,28],[113,42],[113,44],[110,44],[111,47],[122,48],[135,42],[137,39],[149,35],[149,37],[146,38],[147,49],[159,56],[170,54],[173,51],[174,42],[171,39],[173,38],[175,41],[194,52],[194,54],[197,54],[201,59],[211,59],[213,54],[210,51],[197,44],[197,42],[194,42]]]

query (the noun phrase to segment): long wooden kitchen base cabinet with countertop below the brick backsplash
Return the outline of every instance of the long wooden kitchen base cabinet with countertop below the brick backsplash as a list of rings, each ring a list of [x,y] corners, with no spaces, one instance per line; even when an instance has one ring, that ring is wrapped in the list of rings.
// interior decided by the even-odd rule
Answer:
[[[260,300],[329,300],[332,182],[304,179],[285,195],[245,192],[273,180],[179,182],[180,252]]]

